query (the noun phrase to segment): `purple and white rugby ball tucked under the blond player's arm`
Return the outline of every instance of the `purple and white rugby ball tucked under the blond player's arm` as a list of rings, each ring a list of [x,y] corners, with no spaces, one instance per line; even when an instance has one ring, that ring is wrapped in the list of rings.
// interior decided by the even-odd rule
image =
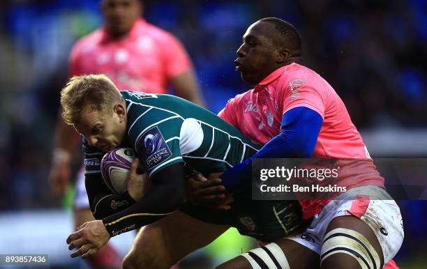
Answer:
[[[128,188],[128,173],[135,157],[132,148],[114,148],[101,160],[100,170],[105,184],[115,194],[121,194]]]

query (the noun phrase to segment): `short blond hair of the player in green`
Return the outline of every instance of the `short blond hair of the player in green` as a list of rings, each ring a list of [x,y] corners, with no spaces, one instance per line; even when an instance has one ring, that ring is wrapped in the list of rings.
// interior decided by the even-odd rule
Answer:
[[[123,101],[114,83],[106,75],[72,77],[61,90],[62,117],[68,125],[79,123],[83,109],[107,111],[115,102]]]

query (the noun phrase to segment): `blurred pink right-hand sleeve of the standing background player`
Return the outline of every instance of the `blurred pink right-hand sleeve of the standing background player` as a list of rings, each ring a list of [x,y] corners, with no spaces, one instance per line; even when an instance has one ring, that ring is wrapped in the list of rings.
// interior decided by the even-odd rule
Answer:
[[[193,67],[186,49],[177,38],[168,33],[164,42],[165,71],[168,79],[173,79]]]

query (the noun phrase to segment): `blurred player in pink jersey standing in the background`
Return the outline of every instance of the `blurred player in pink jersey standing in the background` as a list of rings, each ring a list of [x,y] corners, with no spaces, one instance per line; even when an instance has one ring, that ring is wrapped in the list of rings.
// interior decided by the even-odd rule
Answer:
[[[105,25],[79,40],[70,54],[70,77],[103,73],[119,89],[167,93],[204,105],[185,49],[172,34],[142,19],[140,0],[103,0]],[[63,194],[70,184],[70,163],[80,150],[80,137],[58,117],[50,170],[54,193]],[[83,169],[78,174],[74,203],[75,226],[93,220],[84,188]],[[120,268],[121,257],[107,245],[90,261],[92,268]]]

